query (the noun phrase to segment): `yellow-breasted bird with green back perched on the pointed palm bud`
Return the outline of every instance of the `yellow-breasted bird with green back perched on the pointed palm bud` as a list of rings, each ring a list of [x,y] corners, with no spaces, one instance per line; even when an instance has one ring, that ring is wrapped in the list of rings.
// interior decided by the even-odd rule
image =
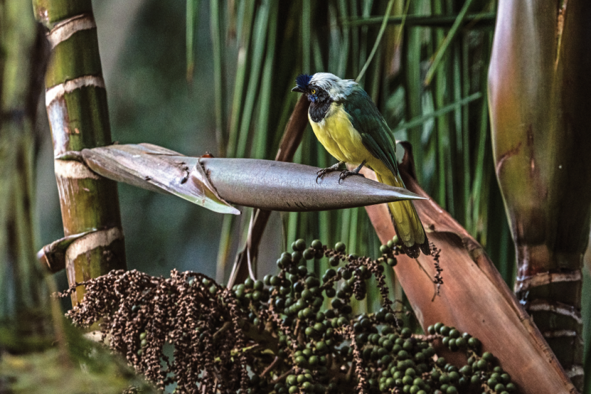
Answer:
[[[349,163],[357,167],[342,171],[339,182],[349,175],[362,175],[359,171],[365,165],[375,171],[379,182],[404,187],[390,128],[358,83],[331,73],[300,74],[291,91],[307,96],[312,130],[320,144],[339,161],[317,172],[316,180]],[[430,255],[427,235],[413,202],[395,201],[388,203],[388,208],[404,253],[410,258],[418,258],[421,251]]]

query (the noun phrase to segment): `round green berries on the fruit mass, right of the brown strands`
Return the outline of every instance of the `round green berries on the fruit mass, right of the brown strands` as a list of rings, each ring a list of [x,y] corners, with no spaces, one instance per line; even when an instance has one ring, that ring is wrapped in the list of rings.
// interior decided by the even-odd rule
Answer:
[[[401,327],[382,275],[385,265],[397,263],[397,239],[382,245],[375,260],[346,255],[342,242],[327,248],[319,240],[308,246],[298,239],[291,249],[277,260],[277,275],[233,287],[249,321],[277,338],[275,356],[281,360],[267,375],[261,376],[267,365],[253,370],[246,394],[331,394],[356,387],[369,394],[454,394],[476,385],[489,394],[515,390],[489,353],[478,356],[476,338],[440,323],[429,328],[431,336],[413,336]],[[307,267],[307,261],[320,258],[328,258],[330,266],[322,278]],[[351,299],[366,297],[372,275],[385,295],[382,307],[353,315]],[[458,369],[435,357],[431,345],[437,339],[451,350],[470,352],[471,363]]]

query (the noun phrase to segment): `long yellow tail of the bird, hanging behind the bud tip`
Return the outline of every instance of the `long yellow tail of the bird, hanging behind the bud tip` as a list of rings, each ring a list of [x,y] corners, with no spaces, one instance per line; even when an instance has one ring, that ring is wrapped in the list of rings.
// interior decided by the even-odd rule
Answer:
[[[391,172],[388,174],[378,174],[376,172],[376,175],[381,183],[404,187],[399,175],[394,175]],[[414,209],[413,201],[405,200],[388,203],[388,208],[404,252],[413,259],[420,255],[421,250],[426,255],[430,255],[429,241],[423,229],[423,223],[421,223],[421,219],[418,218],[417,211]]]

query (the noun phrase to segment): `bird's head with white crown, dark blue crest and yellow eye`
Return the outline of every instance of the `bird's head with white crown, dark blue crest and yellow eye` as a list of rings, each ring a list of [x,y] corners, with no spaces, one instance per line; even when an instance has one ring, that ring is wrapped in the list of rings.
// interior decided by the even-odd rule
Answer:
[[[304,93],[312,103],[345,100],[357,83],[351,79],[340,79],[331,73],[314,75],[300,74],[292,92]]]

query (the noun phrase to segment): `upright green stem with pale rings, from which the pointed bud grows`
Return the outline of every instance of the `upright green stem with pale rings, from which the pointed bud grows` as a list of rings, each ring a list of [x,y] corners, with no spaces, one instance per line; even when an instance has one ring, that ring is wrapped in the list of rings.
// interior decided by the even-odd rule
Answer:
[[[46,105],[64,235],[91,231],[67,249],[66,272],[73,285],[125,268],[117,185],[77,159],[83,148],[111,144],[105,82],[90,0],[35,0],[33,6],[37,20],[50,29]],[[73,304],[83,295],[79,287]]]

